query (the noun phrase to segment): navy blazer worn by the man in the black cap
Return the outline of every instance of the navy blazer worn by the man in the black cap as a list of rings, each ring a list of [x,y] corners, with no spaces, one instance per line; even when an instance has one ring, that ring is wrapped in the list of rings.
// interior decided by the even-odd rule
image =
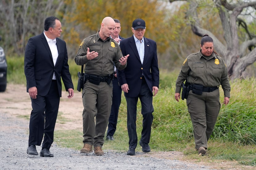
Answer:
[[[159,87],[156,42],[144,37],[144,44],[144,61],[143,64],[141,64],[134,37],[126,38],[120,43],[123,56],[130,54],[127,58],[126,68],[124,70],[118,70],[117,72],[119,84],[128,84],[128,93],[124,93],[126,97],[138,97],[142,83],[142,73],[151,93],[153,86]]]

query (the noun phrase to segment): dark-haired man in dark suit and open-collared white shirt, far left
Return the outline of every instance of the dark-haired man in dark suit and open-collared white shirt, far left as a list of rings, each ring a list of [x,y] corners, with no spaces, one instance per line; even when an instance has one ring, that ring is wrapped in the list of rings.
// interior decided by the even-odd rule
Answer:
[[[24,72],[32,103],[27,148],[29,155],[38,155],[35,145],[40,146],[43,140],[40,156],[53,157],[49,149],[61,97],[60,77],[68,91],[68,98],[74,95],[66,42],[57,38],[61,32],[60,20],[48,17],[44,21],[44,32],[30,38],[26,46]]]

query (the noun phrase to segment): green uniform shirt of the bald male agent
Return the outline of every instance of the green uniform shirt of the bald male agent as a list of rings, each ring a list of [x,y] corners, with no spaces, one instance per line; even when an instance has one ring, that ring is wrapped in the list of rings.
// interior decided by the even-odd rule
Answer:
[[[90,52],[98,52],[98,57],[88,60],[87,47]],[[108,76],[114,73],[114,63],[117,69],[125,69],[126,65],[121,65],[119,59],[123,56],[121,49],[116,41],[107,38],[103,41],[97,34],[85,38],[76,53],[75,62],[77,65],[85,64],[85,73],[99,76]]]

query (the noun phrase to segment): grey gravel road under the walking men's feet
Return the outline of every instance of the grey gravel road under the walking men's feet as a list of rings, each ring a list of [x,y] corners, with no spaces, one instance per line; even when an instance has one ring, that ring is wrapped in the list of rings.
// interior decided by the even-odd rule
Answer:
[[[0,169],[1,170],[55,170],[55,169],[122,169],[122,170],[210,170],[204,165],[180,160],[160,159],[138,152],[128,156],[124,152],[104,150],[104,156],[84,154],[78,150],[58,147],[53,143],[50,151],[54,157],[40,157],[26,153],[29,121],[0,111]],[[41,147],[36,146],[40,152]],[[211,169],[213,170],[213,169]]]

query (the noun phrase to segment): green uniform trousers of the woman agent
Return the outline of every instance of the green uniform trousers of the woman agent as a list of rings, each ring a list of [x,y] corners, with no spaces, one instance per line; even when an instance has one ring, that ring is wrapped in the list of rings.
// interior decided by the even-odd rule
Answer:
[[[207,141],[213,132],[221,108],[220,91],[216,89],[199,95],[190,90],[187,105],[194,129],[195,148],[207,148]]]

